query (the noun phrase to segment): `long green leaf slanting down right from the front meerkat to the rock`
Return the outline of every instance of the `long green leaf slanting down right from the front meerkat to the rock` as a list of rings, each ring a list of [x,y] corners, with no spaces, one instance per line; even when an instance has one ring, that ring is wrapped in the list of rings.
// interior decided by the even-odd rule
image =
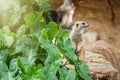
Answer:
[[[63,41],[63,42],[62,42]],[[72,62],[75,65],[75,69],[77,73],[84,78],[85,80],[92,80],[89,76],[89,70],[85,63],[79,62],[77,56],[75,55],[74,51],[72,50],[72,45],[70,39],[68,37],[63,37],[62,40],[57,38],[57,42],[59,46],[64,50],[64,55],[68,59],[69,62]],[[63,44],[62,44],[63,43]]]

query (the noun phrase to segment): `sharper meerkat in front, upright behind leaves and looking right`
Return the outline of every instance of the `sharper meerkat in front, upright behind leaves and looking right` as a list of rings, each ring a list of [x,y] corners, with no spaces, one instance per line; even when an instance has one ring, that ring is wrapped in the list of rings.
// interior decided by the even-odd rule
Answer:
[[[86,33],[86,29],[88,26],[89,25],[83,21],[77,21],[72,26],[72,31],[70,33],[70,40],[73,45],[73,49],[75,53],[79,53],[80,48],[85,43],[84,34]]]

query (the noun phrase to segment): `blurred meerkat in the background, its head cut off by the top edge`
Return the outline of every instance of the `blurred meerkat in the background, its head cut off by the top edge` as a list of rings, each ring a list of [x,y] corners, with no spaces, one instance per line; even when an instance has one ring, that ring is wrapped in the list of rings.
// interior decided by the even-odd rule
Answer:
[[[72,27],[72,18],[75,11],[75,6],[72,0],[64,0],[63,5],[61,5],[57,10],[58,13],[58,23],[63,27],[63,29],[69,29]]]

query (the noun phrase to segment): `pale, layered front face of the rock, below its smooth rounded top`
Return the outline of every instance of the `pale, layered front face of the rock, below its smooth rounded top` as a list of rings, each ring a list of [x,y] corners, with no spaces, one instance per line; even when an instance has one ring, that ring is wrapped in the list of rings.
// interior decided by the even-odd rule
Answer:
[[[90,75],[94,80],[103,78],[116,80],[118,70],[103,55],[88,51],[85,54],[85,61],[89,67]]]

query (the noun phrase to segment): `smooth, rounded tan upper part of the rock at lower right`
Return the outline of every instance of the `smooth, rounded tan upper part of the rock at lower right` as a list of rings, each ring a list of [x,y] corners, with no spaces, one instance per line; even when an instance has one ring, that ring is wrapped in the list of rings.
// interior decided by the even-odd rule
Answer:
[[[110,43],[99,40],[86,46],[86,51],[90,51],[104,56],[105,60],[110,62],[112,66],[118,71],[117,79],[120,79],[120,50],[112,46]],[[99,59],[98,59],[99,60]]]

